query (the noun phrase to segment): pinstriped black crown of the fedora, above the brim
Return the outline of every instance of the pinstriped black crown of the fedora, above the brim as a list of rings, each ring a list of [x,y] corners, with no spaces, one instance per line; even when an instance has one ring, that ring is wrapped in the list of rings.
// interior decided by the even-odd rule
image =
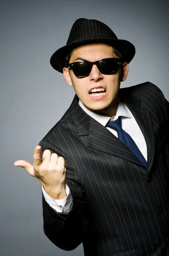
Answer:
[[[117,36],[106,24],[99,20],[77,19],[70,31],[66,45],[91,39],[115,39]]]

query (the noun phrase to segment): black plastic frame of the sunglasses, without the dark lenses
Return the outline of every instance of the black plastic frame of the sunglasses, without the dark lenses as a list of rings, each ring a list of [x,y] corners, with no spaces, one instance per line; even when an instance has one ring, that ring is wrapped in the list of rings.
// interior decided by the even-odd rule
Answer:
[[[113,59],[113,61],[119,62],[120,64],[123,63],[123,61],[122,61],[120,58],[104,58],[104,59],[101,59],[101,60],[98,60],[98,61],[93,61],[93,62],[91,62],[91,61],[77,61],[77,62],[72,62],[72,63],[69,63],[68,69],[72,69],[72,70],[73,70],[73,73],[74,73],[74,71],[75,71],[75,65],[76,65],[76,64],[79,64],[79,63],[89,63],[89,64],[90,64],[90,71],[89,71],[89,73],[87,73],[87,75],[85,75],[85,76],[77,76],[76,71],[75,71],[75,73],[74,73],[75,76],[77,76],[77,77],[79,77],[79,78],[83,78],[83,77],[89,76],[89,74],[90,74],[91,71],[92,71],[93,65],[96,65],[97,68],[98,68],[98,70],[99,70],[99,63],[100,63],[101,61],[105,61],[105,60],[108,60],[108,59]],[[100,70],[99,70],[99,71],[100,71]],[[112,75],[112,74],[115,74],[116,72],[117,72],[117,68],[116,68],[116,70],[114,70],[112,73],[110,73],[110,74],[105,74],[105,75]],[[104,74],[104,73],[101,72],[101,71],[100,71],[100,73]]]

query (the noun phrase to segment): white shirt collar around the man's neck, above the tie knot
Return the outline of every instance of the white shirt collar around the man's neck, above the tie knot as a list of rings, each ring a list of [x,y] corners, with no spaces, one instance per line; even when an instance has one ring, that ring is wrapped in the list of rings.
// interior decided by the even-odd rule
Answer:
[[[106,126],[106,124],[107,124],[107,122],[109,122],[109,120],[110,121],[117,120],[119,116],[132,118],[131,112],[129,111],[127,106],[124,104],[124,102],[120,102],[120,99],[119,99],[119,104],[117,106],[116,115],[110,116],[110,117],[102,116],[102,115],[96,114],[92,111],[89,111],[87,108],[85,108],[85,106],[83,105],[83,103],[80,100],[79,100],[79,105],[89,116],[94,118],[97,122],[99,122],[103,126]]]

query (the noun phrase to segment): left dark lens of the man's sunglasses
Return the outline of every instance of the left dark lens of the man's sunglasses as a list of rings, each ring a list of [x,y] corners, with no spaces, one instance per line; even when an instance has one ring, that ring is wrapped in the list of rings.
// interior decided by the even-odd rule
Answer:
[[[91,65],[87,62],[79,62],[77,64],[74,64],[73,72],[74,75],[77,77],[88,76],[91,72]]]

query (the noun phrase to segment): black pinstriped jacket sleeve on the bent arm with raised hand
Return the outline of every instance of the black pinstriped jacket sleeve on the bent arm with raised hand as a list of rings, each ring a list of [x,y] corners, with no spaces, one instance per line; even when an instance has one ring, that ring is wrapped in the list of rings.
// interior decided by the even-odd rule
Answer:
[[[59,213],[46,202],[43,196],[43,229],[46,236],[63,250],[74,250],[89,235],[89,210],[83,201],[84,190],[75,181],[72,161],[66,153],[49,140],[43,139],[39,145],[43,151],[49,149],[65,159],[66,183],[72,193],[73,204],[70,212]]]

